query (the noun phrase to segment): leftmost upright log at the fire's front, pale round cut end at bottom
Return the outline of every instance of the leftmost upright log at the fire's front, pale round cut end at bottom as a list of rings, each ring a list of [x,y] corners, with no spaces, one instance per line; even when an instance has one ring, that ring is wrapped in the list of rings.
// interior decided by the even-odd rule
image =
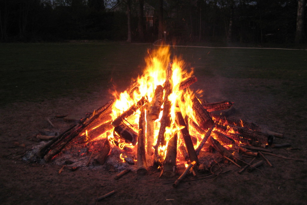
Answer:
[[[146,164],[146,152],[145,152],[145,133],[146,133],[146,122],[145,122],[145,111],[144,107],[140,108],[141,115],[139,118],[139,130],[138,130],[138,174],[145,175],[147,173]]]

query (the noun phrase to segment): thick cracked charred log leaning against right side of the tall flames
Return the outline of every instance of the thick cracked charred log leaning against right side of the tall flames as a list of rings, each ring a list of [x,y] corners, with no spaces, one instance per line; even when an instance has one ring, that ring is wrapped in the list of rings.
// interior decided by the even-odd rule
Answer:
[[[214,124],[209,112],[204,109],[196,97],[192,99],[192,103],[192,109],[196,114],[197,123],[203,130],[208,130]]]

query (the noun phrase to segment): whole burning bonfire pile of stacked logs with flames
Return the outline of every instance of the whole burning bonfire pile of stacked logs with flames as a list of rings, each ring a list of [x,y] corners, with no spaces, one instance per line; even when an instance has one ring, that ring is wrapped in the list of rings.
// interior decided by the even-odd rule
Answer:
[[[161,59],[160,53],[165,52],[149,52],[150,68]],[[84,166],[102,165],[111,150],[118,149],[118,160],[134,166],[140,175],[157,169],[161,176],[181,174],[173,183],[176,187],[187,174],[211,172],[213,176],[212,167],[218,164],[220,169],[221,161],[235,164],[239,173],[258,169],[264,161],[272,166],[265,157],[272,154],[267,147],[289,146],[273,144],[275,137],[283,137],[281,133],[263,132],[254,123],[228,117],[233,102],[207,102],[189,88],[197,82],[196,76],[183,71],[178,62],[165,63],[166,60],[158,64],[158,74],[146,70],[124,92],[52,137],[36,151],[37,158],[52,161],[63,149],[77,144],[89,148]],[[162,79],[157,81],[156,75]],[[212,153],[217,157],[206,157]],[[176,168],[184,164],[185,171],[179,173]]]

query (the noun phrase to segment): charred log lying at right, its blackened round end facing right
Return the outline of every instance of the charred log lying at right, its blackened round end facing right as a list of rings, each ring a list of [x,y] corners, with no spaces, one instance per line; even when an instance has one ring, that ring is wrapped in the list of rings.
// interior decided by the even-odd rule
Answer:
[[[233,130],[237,131],[238,133],[242,134],[244,138],[247,138],[252,141],[258,141],[262,144],[269,144],[271,145],[273,142],[273,136],[264,134],[262,132],[248,130],[244,127],[238,126],[230,126]]]

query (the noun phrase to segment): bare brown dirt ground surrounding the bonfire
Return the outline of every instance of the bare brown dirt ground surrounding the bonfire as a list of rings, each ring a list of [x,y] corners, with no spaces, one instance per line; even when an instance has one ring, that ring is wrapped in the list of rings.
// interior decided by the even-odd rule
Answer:
[[[299,148],[279,148],[273,153],[305,159],[306,113],[300,113],[296,103],[305,97],[287,98],[279,89],[281,83],[265,79],[199,78],[195,87],[205,90],[209,102],[235,102],[237,112],[232,117],[284,133],[285,137],[276,138],[275,143],[290,143],[292,148]],[[182,182],[177,188],[163,184],[165,178],[158,178],[160,173],[155,170],[145,176],[130,172],[114,180],[117,172],[103,166],[76,171],[64,168],[58,174],[61,165],[22,161],[23,154],[39,143],[30,140],[31,137],[38,130],[51,128],[47,118],[55,120],[56,114],[84,117],[85,113],[106,103],[109,97],[107,91],[101,91],[82,99],[68,97],[2,107],[0,204],[306,204],[306,162],[269,155],[266,157],[273,167],[265,162],[260,168],[262,172],[255,170],[240,175],[239,168],[226,164],[223,169],[230,172]],[[60,124],[61,131],[72,125]],[[95,201],[97,196],[113,190],[115,194]]]

